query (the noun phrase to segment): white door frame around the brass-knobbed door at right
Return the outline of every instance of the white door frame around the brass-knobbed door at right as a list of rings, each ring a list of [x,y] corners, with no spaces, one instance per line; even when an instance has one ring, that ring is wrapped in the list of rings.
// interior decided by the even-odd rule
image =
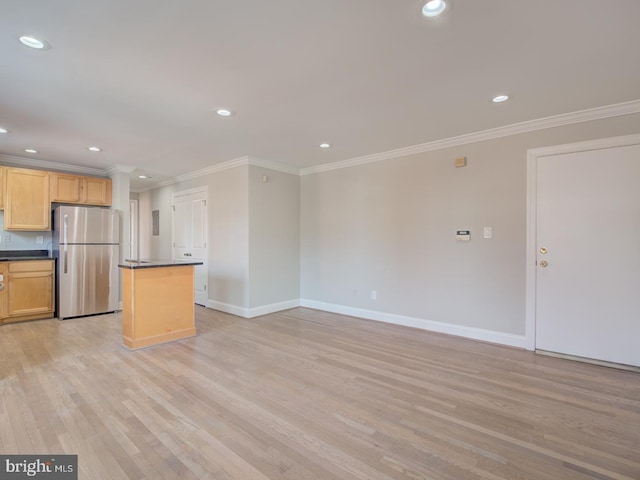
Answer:
[[[554,145],[527,150],[527,255],[525,286],[525,348],[536,349],[536,275],[537,268],[537,171],[538,159],[553,155],[579,153],[606,148],[640,145],[640,134],[601,138],[586,142]]]

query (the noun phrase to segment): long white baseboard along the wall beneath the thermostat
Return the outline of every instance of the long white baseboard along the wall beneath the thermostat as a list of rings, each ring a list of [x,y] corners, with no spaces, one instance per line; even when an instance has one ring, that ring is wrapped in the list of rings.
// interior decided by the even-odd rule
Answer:
[[[326,312],[340,313],[342,315],[349,315],[352,317],[364,318],[366,320],[376,320],[379,322],[404,325],[406,327],[420,328],[422,330],[447,333],[449,335],[457,335],[459,337],[482,340],[484,342],[497,343],[510,347],[525,348],[524,335],[514,335],[511,333],[496,332],[493,330],[485,330],[476,327],[466,327],[464,325],[454,325],[451,323],[434,322],[432,320],[425,320],[422,318],[406,317],[404,315],[396,315],[393,313],[376,312],[375,310],[347,307],[345,305],[318,302],[316,300],[308,300],[304,298],[300,299],[300,306],[315,308],[317,310],[324,310]]]

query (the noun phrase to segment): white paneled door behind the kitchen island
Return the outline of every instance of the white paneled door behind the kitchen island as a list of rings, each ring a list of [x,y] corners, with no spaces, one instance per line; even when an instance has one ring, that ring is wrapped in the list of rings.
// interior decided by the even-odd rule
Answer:
[[[173,258],[203,262],[195,267],[195,302],[207,305],[207,192],[173,197]]]

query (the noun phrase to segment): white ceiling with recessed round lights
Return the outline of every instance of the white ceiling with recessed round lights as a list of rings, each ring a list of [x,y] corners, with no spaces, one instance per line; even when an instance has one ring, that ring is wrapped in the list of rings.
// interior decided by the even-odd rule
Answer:
[[[132,167],[141,190],[141,173],[246,156],[303,169],[640,99],[638,0],[453,0],[436,19],[420,7],[2,0],[0,154]]]

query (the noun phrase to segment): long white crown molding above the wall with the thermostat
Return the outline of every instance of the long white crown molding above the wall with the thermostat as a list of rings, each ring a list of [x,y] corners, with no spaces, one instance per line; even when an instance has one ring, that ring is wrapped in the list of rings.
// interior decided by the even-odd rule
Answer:
[[[607,105],[605,107],[589,108],[572,113],[563,113],[551,117],[514,123],[512,125],[506,125],[504,127],[497,127],[489,130],[482,130],[480,132],[459,135],[457,137],[450,137],[433,142],[422,143],[420,145],[398,148],[396,150],[390,150],[388,152],[375,153],[373,155],[366,155],[363,157],[356,157],[333,163],[325,163],[316,167],[303,168],[300,170],[300,175],[312,175],[314,173],[327,172],[340,168],[354,167],[366,163],[380,162],[382,160],[405,157],[407,155],[414,155],[416,153],[431,152],[434,150],[442,150],[444,148],[455,147],[458,145],[483,142],[486,140],[508,137],[510,135],[533,132],[536,130],[544,130],[545,128],[561,127],[564,125],[589,122],[592,120],[600,120],[609,117],[632,115],[634,113],[640,113],[640,100],[617,103],[615,105]]]

